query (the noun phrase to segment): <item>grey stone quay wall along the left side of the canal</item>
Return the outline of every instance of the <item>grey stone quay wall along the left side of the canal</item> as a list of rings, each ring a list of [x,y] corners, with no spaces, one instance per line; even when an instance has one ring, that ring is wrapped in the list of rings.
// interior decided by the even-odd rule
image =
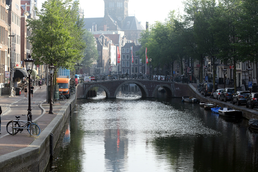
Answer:
[[[41,131],[40,136],[26,148],[13,151],[0,159],[0,171],[11,172],[41,172],[46,170],[50,159],[50,134],[53,134],[53,149],[56,146],[60,133],[72,108],[75,106],[77,96],[71,98],[60,108],[56,117]],[[43,108],[42,108],[43,109]],[[47,113],[47,112],[46,112]],[[17,143],[19,144],[19,143]]]

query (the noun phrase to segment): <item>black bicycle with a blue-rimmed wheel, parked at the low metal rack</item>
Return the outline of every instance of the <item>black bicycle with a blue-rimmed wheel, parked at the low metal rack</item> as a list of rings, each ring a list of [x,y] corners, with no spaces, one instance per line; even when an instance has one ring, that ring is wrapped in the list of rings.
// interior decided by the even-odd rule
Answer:
[[[32,114],[31,114],[31,111],[29,112],[30,112],[29,115],[23,115],[23,116],[27,116],[27,117],[29,116],[29,119],[31,119],[30,116]],[[16,120],[11,120],[6,125],[6,130],[9,134],[11,135],[17,134],[19,131],[21,133],[24,129],[27,129],[32,136],[38,136],[40,134],[40,128],[37,122],[33,122],[32,120],[20,121],[19,120],[20,116],[15,116],[15,117],[16,117]],[[22,125],[21,123],[24,123],[24,125]]]

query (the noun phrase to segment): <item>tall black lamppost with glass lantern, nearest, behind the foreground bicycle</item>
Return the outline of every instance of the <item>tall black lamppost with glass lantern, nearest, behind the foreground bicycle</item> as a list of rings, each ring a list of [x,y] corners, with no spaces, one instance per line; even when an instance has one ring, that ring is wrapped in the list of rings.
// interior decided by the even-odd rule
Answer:
[[[29,107],[28,107],[28,121],[32,120],[32,109],[31,109],[31,101],[30,101],[30,84],[31,84],[31,79],[30,79],[30,74],[32,73],[32,68],[34,66],[34,60],[31,58],[31,55],[28,55],[27,59],[24,59],[24,63],[26,65],[26,70],[29,74]]]

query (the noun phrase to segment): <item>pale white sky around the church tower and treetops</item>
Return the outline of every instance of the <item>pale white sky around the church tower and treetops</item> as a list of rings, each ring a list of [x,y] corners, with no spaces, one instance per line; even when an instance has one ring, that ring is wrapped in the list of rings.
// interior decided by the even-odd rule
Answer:
[[[38,8],[45,0],[38,0]],[[179,9],[183,11],[183,0],[163,0],[147,1],[147,0],[129,0],[128,13],[129,16],[134,16],[138,21],[142,22],[145,28],[146,21],[149,25],[154,24],[155,21],[165,21],[169,11]],[[104,17],[104,1],[103,0],[79,0],[81,7],[84,10],[84,17]]]

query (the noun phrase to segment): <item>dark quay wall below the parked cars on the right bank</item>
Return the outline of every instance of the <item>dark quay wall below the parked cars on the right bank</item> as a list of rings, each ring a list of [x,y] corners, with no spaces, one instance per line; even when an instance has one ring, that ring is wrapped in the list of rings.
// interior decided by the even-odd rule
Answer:
[[[242,112],[243,118],[258,119],[258,111],[257,110],[247,108],[247,107],[245,107],[245,105],[240,105],[240,106],[233,105],[232,103],[230,103],[230,101],[224,102],[224,101],[210,98],[209,96],[204,97],[204,95],[199,93],[199,91],[197,91],[193,85],[191,85],[191,84],[184,84],[184,85],[187,85],[188,91],[186,91],[186,93],[183,96],[192,96],[192,97],[197,98],[200,102],[213,102],[213,103],[215,103],[215,105],[218,105],[219,107],[229,107],[234,110],[239,110]],[[175,92],[176,92],[176,90],[175,90]],[[180,93],[182,93],[182,92],[180,92]]]

